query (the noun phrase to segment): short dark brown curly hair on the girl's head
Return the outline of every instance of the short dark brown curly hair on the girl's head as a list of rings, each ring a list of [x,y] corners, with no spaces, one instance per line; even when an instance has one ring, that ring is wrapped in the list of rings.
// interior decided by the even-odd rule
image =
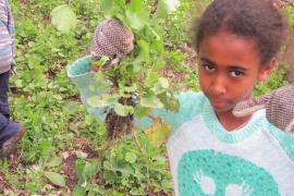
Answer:
[[[196,22],[195,29],[197,51],[205,37],[225,30],[254,40],[264,65],[278,53],[286,26],[269,0],[215,0]]]

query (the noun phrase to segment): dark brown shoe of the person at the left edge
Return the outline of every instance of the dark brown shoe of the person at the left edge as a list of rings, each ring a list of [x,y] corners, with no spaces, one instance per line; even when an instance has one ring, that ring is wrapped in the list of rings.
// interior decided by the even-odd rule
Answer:
[[[10,139],[3,143],[0,149],[0,157],[8,157],[14,151],[19,140],[24,136],[25,131],[26,131],[25,127],[21,126],[21,131],[19,133],[16,133]]]

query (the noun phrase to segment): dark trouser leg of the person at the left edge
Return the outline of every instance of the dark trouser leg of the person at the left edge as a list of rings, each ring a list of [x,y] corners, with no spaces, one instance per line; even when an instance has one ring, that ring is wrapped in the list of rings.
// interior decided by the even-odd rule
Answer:
[[[0,74],[0,147],[20,132],[20,124],[10,120],[8,103],[9,72]]]

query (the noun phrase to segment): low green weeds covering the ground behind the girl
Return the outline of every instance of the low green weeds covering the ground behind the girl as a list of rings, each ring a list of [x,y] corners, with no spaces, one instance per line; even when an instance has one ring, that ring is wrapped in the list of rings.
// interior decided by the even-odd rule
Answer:
[[[76,88],[66,76],[69,64],[89,52],[95,28],[109,11],[101,2],[10,1],[16,25],[17,64],[17,75],[11,79],[10,106],[13,118],[26,126],[27,133],[15,159],[0,160],[1,194],[172,195],[164,144],[150,138],[150,135],[161,136],[152,134],[162,128],[160,121],[155,120],[159,125],[150,127],[149,132],[135,130],[134,134],[123,135],[101,158],[108,138],[105,123],[85,111]],[[142,2],[149,10],[157,7],[151,0]],[[156,24],[152,24],[155,19],[150,20],[161,41],[155,44],[155,48],[147,49],[151,40],[140,37],[144,34],[139,32],[139,20],[144,19],[138,20],[138,26],[133,26],[135,36],[142,38],[139,49],[156,51],[160,50],[156,47],[162,45],[160,51],[164,50],[164,63],[158,64],[156,70],[159,74],[149,79],[150,86],[161,81],[157,90],[199,88],[188,27],[189,19],[208,3],[209,0],[182,0],[169,17],[158,17]],[[77,19],[75,28],[66,34],[52,25],[52,11],[62,4]],[[285,4],[283,11],[293,28],[293,7]],[[285,85],[284,76],[284,69],[280,69],[268,82],[257,86],[256,95]]]

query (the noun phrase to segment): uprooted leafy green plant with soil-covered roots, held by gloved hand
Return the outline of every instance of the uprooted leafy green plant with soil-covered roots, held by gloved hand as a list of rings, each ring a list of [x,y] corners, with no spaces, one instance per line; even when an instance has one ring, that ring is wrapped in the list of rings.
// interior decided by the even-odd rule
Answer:
[[[119,132],[130,132],[132,117],[135,110],[146,108],[166,108],[176,110],[176,101],[164,102],[174,99],[170,90],[170,83],[160,76],[159,71],[166,66],[166,57],[162,35],[157,30],[160,26],[156,23],[160,16],[166,16],[177,7],[177,1],[162,1],[155,13],[150,14],[144,1],[124,0],[103,1],[102,10],[107,15],[117,17],[128,26],[135,35],[135,49],[119,65],[102,71],[99,69],[97,81],[101,86],[109,86],[106,78],[112,82],[109,86],[111,94],[91,97],[88,103],[93,107],[113,108],[107,115],[106,124],[109,138],[120,135]],[[103,64],[103,63],[98,63]],[[132,95],[137,91],[137,102],[134,106]],[[115,118],[115,115],[119,115]],[[120,118],[123,117],[123,118]],[[115,121],[120,121],[119,126]],[[123,125],[125,124],[125,125]],[[125,131],[123,131],[125,130]]]

